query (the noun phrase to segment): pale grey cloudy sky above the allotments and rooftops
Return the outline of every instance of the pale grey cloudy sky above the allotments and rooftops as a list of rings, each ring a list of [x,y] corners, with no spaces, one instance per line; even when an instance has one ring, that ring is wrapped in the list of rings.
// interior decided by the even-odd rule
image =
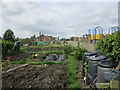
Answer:
[[[102,26],[104,33],[118,25],[117,2],[2,2],[2,27],[16,37],[45,35],[69,38],[82,36],[89,29]]]

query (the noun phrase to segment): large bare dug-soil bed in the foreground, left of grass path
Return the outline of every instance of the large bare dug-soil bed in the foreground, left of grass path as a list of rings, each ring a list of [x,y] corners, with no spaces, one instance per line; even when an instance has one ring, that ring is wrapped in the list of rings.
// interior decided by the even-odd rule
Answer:
[[[2,75],[3,88],[66,88],[64,65],[28,65]]]

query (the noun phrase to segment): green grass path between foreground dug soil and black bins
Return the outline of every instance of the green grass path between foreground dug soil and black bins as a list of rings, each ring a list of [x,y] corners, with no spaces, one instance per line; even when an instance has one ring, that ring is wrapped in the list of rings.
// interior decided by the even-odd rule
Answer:
[[[81,88],[80,82],[77,81],[77,63],[78,60],[74,58],[74,56],[68,56],[68,62],[67,62],[67,85],[68,88]]]

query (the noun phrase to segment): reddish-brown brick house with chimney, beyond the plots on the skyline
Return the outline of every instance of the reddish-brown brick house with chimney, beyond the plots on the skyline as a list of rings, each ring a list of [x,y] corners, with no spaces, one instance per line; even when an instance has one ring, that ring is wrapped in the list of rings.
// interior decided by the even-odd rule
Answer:
[[[37,42],[51,42],[51,41],[55,41],[55,37],[53,36],[46,36],[42,33],[39,33],[39,36],[36,39]]]

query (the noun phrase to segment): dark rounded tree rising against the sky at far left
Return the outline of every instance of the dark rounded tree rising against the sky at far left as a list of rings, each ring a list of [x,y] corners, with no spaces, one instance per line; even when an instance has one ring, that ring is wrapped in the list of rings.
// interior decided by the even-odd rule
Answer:
[[[7,29],[5,31],[5,34],[3,35],[3,39],[14,42],[14,38],[15,38],[14,32],[11,29]]]

